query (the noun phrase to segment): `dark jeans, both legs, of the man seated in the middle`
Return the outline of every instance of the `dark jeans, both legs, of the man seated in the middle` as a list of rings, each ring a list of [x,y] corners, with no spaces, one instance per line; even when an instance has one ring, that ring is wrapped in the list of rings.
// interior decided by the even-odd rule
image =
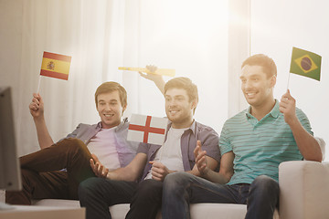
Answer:
[[[162,198],[163,183],[144,180],[141,183],[90,178],[79,186],[80,205],[86,207],[87,219],[111,219],[109,206],[131,203],[129,219],[154,219]]]

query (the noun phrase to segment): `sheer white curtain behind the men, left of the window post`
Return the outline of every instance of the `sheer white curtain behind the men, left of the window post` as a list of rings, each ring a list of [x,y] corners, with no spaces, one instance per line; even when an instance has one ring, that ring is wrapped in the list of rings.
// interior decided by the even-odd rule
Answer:
[[[165,116],[154,84],[120,66],[175,68],[198,86],[196,120],[220,132],[228,117],[228,1],[0,0],[0,18],[0,86],[13,88],[19,155],[38,150],[28,104],[44,51],[72,57],[68,81],[41,78],[54,141],[99,121],[93,94],[107,80],[127,89],[125,116]]]

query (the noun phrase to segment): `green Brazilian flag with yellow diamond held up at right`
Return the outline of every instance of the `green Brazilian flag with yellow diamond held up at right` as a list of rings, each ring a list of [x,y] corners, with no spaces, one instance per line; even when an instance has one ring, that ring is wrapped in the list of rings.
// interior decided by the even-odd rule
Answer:
[[[321,56],[301,48],[292,47],[290,72],[320,81]]]

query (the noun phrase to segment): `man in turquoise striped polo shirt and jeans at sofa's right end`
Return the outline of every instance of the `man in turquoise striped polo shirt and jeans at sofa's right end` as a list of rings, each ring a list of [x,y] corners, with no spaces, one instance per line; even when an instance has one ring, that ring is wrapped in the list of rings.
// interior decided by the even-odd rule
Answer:
[[[205,179],[173,173],[164,180],[163,219],[190,218],[188,203],[247,204],[246,218],[271,219],[279,203],[278,167],[281,162],[321,162],[310,122],[288,90],[273,98],[277,68],[259,54],[242,64],[241,89],[249,103],[228,119],[221,131],[219,172],[207,167],[206,151],[198,143],[196,166]]]

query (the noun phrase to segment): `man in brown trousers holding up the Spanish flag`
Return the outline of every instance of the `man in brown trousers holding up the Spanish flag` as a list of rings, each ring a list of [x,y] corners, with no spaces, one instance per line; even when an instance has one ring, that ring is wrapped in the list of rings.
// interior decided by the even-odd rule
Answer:
[[[57,143],[48,133],[43,99],[39,94],[33,96],[29,109],[41,150],[20,157],[23,190],[7,192],[6,203],[31,204],[32,199],[44,198],[78,199],[79,183],[95,176],[90,159],[105,163],[110,171],[133,160],[138,144],[126,141],[129,123],[122,120],[122,113],[127,107],[127,93],[119,83],[105,82],[96,90],[99,123],[80,123]]]

